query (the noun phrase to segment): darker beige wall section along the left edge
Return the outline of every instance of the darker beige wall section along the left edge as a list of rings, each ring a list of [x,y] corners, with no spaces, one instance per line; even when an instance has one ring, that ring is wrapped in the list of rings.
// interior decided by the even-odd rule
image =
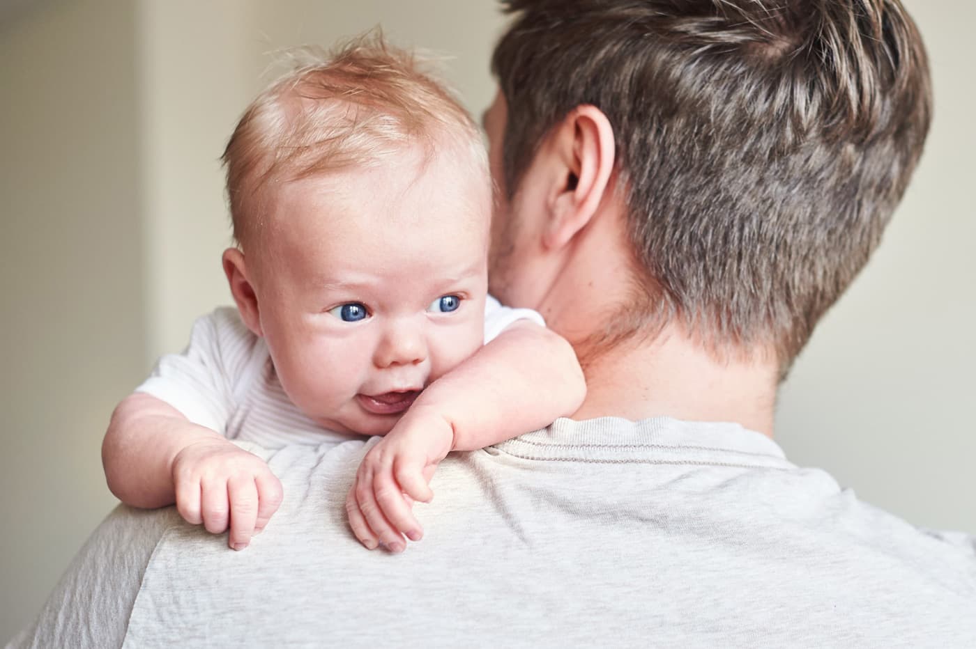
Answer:
[[[144,371],[134,19],[0,24],[0,643],[112,506],[102,434]]]

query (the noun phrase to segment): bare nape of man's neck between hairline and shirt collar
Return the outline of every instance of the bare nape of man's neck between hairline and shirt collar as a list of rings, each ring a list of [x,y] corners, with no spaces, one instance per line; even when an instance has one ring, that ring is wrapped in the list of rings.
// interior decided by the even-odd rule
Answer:
[[[587,400],[574,419],[669,416],[735,422],[772,437],[776,370],[771,364],[719,362],[671,326],[653,341],[587,356]]]

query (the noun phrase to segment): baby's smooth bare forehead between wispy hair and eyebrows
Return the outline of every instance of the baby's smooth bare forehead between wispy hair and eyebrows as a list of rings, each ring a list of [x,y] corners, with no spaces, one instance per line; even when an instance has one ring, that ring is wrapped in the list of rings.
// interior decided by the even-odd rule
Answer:
[[[262,263],[310,286],[483,273],[491,192],[469,175],[403,163],[277,183]]]

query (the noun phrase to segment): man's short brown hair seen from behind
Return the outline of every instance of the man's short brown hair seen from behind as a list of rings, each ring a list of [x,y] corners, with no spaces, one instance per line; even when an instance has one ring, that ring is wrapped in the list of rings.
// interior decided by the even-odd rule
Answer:
[[[927,133],[925,53],[898,0],[505,5],[495,260],[516,248],[548,138],[594,108],[612,129],[629,281],[650,296],[640,327],[677,322],[785,371],[876,247]],[[495,260],[504,298],[522,280]]]

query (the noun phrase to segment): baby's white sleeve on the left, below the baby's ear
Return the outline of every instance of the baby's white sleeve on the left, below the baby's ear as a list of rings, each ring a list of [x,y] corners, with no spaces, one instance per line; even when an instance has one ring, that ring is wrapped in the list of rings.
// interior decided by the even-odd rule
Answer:
[[[166,401],[194,424],[222,435],[234,407],[234,382],[258,337],[235,309],[197,319],[182,354],[167,354],[136,392]]]

